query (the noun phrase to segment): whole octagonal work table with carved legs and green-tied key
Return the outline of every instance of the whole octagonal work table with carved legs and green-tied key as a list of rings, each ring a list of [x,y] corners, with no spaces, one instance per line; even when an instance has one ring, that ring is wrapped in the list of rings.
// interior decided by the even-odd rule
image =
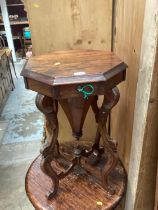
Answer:
[[[52,199],[58,192],[59,180],[81,165],[89,172],[93,168],[93,175],[99,173],[101,186],[109,195],[115,196],[116,186],[111,184],[109,177],[118,165],[119,158],[117,144],[109,137],[106,122],[111,109],[119,100],[116,85],[125,79],[126,67],[113,53],[70,50],[33,57],[23,69],[26,88],[40,93],[37,95],[36,105],[46,118],[47,135],[46,144],[41,151],[41,169],[53,183],[48,199]],[[97,95],[104,95],[100,108],[97,106]],[[67,156],[58,143],[58,103],[61,104],[77,140],[82,136],[82,127],[90,106],[98,123],[91,148],[87,150],[78,143],[68,166]],[[100,143],[101,138],[103,145]],[[102,161],[105,157],[106,161]],[[56,159],[61,159],[66,168],[60,173],[52,167],[52,162]],[[98,164],[101,163],[102,167],[99,169]]]

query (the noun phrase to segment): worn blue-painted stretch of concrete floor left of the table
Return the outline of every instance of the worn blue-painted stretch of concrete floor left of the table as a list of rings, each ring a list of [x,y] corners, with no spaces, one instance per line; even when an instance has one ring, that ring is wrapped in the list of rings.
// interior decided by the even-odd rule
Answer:
[[[26,90],[23,78],[19,76],[24,62],[21,60],[16,64],[16,88],[11,92],[0,117],[0,122],[6,126],[3,144],[38,141],[43,132],[43,116],[35,106],[36,93]]]

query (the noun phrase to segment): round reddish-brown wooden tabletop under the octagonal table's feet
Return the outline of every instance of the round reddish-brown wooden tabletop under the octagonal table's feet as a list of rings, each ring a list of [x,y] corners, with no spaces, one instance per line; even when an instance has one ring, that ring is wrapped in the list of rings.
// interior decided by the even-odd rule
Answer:
[[[69,144],[63,144],[60,147],[70,157],[76,144],[77,142],[69,142]],[[89,148],[89,143],[81,142],[81,144]],[[115,195],[111,196],[108,191],[100,186],[97,177],[101,174],[92,175],[95,167],[91,167],[91,173],[76,168],[73,173],[60,181],[60,187],[54,199],[48,200],[46,194],[51,181],[40,169],[41,159],[42,157],[39,156],[32,163],[26,175],[26,192],[35,209],[109,210],[119,203],[125,193],[126,175],[122,164],[118,162],[109,177],[109,180],[116,187]],[[63,163],[60,161],[55,160],[51,164],[58,173],[64,170]]]

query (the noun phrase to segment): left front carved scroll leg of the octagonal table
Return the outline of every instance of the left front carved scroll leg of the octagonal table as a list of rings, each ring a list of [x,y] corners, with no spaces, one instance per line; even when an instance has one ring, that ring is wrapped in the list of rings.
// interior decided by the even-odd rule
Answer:
[[[47,142],[41,151],[41,169],[51,178],[53,182],[53,190],[48,195],[48,199],[51,199],[57,193],[59,186],[58,175],[51,166],[51,162],[56,156],[56,148],[58,145],[58,103],[50,97],[38,94],[36,97],[36,106],[45,115],[46,127],[48,129]]]

